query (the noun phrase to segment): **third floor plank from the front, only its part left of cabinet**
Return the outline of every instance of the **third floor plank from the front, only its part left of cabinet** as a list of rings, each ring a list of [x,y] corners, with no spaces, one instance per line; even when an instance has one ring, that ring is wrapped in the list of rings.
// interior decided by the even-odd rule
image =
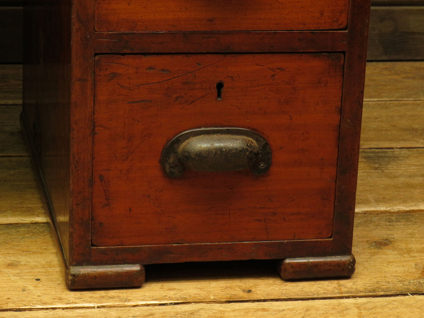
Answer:
[[[0,157],[0,224],[45,222],[30,159]]]

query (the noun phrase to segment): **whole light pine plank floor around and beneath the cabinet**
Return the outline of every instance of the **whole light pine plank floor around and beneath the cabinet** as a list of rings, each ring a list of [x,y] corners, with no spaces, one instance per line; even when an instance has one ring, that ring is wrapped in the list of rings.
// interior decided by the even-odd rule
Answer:
[[[285,282],[273,261],[149,265],[142,288],[70,291],[0,65],[0,317],[424,316],[424,62],[367,65],[351,279]]]

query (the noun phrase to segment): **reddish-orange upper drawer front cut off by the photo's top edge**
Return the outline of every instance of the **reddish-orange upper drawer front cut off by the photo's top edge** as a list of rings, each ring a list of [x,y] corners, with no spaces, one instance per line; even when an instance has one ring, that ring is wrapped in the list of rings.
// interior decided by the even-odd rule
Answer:
[[[96,0],[96,31],[292,31],[346,28],[349,0]]]

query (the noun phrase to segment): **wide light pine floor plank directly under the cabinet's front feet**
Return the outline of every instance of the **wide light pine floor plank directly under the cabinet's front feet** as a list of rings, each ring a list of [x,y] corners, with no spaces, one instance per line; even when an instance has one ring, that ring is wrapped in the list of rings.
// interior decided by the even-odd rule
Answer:
[[[69,291],[47,224],[0,225],[0,310],[422,293],[423,226],[424,212],[357,215],[351,279],[285,282],[269,261],[186,263],[148,266],[141,288]]]

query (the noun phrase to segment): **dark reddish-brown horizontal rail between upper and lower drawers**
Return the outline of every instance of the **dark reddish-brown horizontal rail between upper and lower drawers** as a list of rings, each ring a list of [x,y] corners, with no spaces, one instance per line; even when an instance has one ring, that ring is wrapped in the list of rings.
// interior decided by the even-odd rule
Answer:
[[[342,52],[347,31],[96,33],[96,53]]]

